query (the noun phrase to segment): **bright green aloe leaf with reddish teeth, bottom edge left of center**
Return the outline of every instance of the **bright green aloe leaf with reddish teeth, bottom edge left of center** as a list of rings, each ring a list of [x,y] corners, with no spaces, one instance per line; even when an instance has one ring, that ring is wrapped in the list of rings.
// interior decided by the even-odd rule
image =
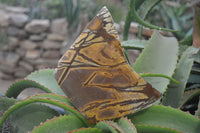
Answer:
[[[76,116],[64,115],[41,123],[31,133],[66,133],[82,127],[85,125]]]

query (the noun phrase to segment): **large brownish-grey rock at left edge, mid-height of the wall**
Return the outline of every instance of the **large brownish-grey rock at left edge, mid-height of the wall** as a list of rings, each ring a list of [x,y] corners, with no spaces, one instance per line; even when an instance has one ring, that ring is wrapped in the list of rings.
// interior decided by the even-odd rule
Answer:
[[[0,53],[0,64],[2,65],[8,65],[11,67],[16,66],[20,59],[20,56],[15,53],[11,52],[1,52]]]

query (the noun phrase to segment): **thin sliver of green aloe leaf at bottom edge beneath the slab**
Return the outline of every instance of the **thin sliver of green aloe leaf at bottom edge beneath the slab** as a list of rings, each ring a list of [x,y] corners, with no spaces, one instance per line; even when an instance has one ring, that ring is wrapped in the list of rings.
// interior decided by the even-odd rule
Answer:
[[[74,131],[71,131],[71,133],[105,133],[102,130],[98,128],[80,128]]]

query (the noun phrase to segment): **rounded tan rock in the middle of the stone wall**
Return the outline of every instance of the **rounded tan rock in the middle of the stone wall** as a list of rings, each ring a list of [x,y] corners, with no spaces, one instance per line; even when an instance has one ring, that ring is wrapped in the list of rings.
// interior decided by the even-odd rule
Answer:
[[[33,50],[39,46],[36,42],[32,42],[29,40],[21,41],[20,43],[21,48],[25,50]]]

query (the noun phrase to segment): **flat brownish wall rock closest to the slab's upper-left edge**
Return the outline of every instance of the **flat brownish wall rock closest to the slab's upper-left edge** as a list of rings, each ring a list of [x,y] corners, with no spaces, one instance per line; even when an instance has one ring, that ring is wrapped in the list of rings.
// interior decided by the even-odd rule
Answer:
[[[42,53],[43,58],[56,59],[60,57],[60,52],[58,50],[47,50]]]

